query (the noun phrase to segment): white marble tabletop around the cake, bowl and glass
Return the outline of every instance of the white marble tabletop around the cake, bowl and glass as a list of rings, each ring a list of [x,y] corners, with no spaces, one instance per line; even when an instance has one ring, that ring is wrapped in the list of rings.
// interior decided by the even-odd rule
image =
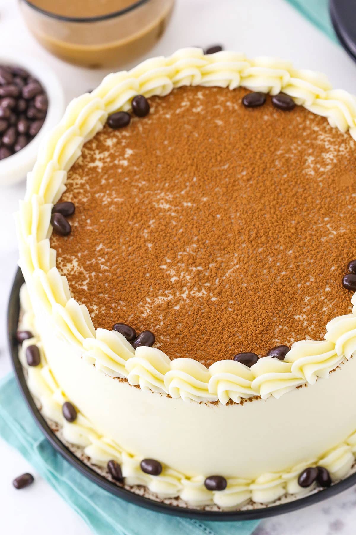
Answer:
[[[326,72],[335,86],[355,91],[356,65],[341,47],[284,0],[177,0],[168,31],[152,55],[169,54],[186,45],[216,42],[225,48],[245,51],[249,56],[291,59],[298,67]],[[105,74],[67,65],[42,50],[28,33],[14,0],[0,0],[0,48],[4,47],[26,50],[27,54],[46,60],[60,75],[67,101],[95,87]],[[11,369],[5,316],[18,258],[12,213],[24,192],[25,182],[0,190],[0,377]],[[82,519],[41,478],[36,478],[36,484],[27,490],[13,489],[13,477],[34,471],[1,440],[0,458],[1,533],[46,535],[50,526],[51,535],[89,535]],[[255,535],[352,535],[355,525],[356,488],[351,488],[304,510],[262,521]]]

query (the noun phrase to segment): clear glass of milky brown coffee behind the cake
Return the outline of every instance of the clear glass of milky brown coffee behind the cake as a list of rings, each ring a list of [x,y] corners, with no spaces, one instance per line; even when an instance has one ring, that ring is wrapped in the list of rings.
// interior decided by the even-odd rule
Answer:
[[[174,0],[20,0],[31,33],[55,56],[86,67],[114,67],[160,39]]]

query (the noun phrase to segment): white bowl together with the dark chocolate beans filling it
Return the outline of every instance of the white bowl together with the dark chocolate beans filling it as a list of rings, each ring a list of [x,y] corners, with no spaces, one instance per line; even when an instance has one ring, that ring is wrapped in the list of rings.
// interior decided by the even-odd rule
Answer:
[[[63,112],[60,82],[47,65],[0,52],[0,186],[26,178]]]

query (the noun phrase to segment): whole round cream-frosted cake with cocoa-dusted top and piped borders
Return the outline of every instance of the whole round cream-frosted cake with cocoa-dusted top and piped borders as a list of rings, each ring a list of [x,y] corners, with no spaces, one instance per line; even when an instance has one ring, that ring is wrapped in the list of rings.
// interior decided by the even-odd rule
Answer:
[[[233,508],[349,473],[355,119],[323,75],[200,49],[70,103],[17,217],[18,337],[110,479]]]

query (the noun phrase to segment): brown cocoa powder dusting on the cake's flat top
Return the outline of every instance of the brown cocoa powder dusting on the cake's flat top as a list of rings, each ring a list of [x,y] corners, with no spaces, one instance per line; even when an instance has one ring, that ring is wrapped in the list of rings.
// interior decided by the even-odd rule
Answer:
[[[156,335],[205,365],[319,340],[348,314],[356,257],[350,134],[246,89],[186,87],[86,143],[68,173],[57,265],[94,326]]]

